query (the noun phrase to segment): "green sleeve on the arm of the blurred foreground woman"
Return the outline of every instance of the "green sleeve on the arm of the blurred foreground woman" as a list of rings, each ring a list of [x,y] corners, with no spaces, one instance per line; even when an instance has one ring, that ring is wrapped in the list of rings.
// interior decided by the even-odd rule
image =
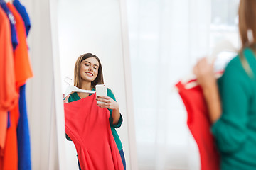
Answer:
[[[228,64],[219,86],[223,113],[211,130],[218,148],[227,154],[241,149],[247,139],[250,87],[245,77],[237,57]]]

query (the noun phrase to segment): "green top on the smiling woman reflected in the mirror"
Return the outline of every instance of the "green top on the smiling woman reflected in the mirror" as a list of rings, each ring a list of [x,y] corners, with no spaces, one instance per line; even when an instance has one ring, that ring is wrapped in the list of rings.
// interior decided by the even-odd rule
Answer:
[[[92,91],[95,91],[95,89],[93,88]],[[92,94],[89,94],[89,96],[90,95],[92,95]],[[113,92],[108,88],[107,88],[107,96],[111,97],[114,101],[116,101],[116,98],[114,97]],[[81,98],[75,92],[73,94],[70,94],[70,97],[68,98],[68,103],[73,102],[73,101],[78,101],[80,99]],[[112,118],[112,109],[108,109],[108,110],[110,111],[110,129],[111,129],[112,135],[114,137],[114,141],[117,144],[117,148],[120,151],[120,150],[122,150],[122,142],[121,142],[119,135],[117,134],[117,130],[115,130],[115,128],[119,128],[121,126],[122,121],[123,121],[122,115],[120,114],[120,118],[119,118],[117,125],[114,125],[113,118]],[[68,140],[71,140],[70,137],[68,137],[68,135],[66,135],[66,137]]]

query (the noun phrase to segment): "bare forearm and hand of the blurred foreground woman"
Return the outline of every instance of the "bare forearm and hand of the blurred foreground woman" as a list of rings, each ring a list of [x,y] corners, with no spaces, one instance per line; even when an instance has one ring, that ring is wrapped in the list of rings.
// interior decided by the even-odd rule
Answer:
[[[211,123],[215,123],[222,113],[217,81],[214,77],[213,63],[209,64],[206,57],[199,60],[193,69],[197,82],[203,89]]]

